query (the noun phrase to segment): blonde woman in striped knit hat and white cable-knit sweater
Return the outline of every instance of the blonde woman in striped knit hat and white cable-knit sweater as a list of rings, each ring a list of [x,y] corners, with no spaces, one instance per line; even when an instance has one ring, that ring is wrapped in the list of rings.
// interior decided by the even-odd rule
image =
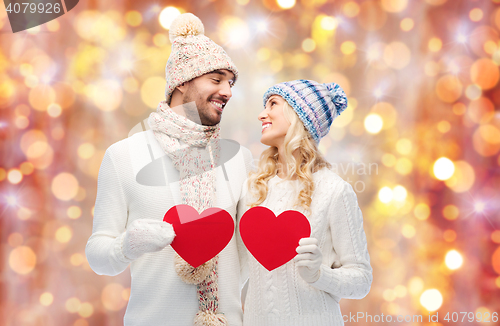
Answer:
[[[243,324],[343,325],[339,300],[365,297],[372,268],[356,194],[317,146],[347,98],[337,84],[295,80],[271,87],[264,105],[261,142],[270,147],[248,179],[247,209],[298,210],[311,224],[311,237],[271,272],[248,255]]]

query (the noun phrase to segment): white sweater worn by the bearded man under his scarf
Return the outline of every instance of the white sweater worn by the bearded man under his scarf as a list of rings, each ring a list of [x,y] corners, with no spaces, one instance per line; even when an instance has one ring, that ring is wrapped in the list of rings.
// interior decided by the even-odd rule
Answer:
[[[146,139],[155,159],[165,156],[151,130],[119,141],[106,151],[99,170],[94,226],[86,255],[90,267],[100,275],[117,275],[130,264],[132,284],[125,326],[191,326],[198,312],[196,286],[186,284],[177,276],[172,247],[146,253],[133,261],[123,255],[121,248],[125,229],[134,220],[162,221],[167,210],[181,202],[178,181],[171,183],[171,191],[166,186],[136,182],[138,171],[151,162]],[[225,163],[232,195],[222,168],[217,168],[216,207],[228,211],[233,219],[237,203],[232,198],[240,198],[251,159],[250,151],[241,147],[238,154]],[[166,165],[168,178],[178,179],[179,172],[172,164]],[[241,325],[243,319],[241,264],[236,242],[233,236],[219,254],[218,266],[219,309],[231,326]]]

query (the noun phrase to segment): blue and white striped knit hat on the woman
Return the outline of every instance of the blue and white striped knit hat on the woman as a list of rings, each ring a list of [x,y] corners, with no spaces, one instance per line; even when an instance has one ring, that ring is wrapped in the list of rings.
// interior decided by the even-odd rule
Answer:
[[[347,96],[335,83],[298,79],[274,85],[264,94],[264,107],[272,95],[279,95],[288,102],[316,144],[328,134],[333,120],[347,108]]]

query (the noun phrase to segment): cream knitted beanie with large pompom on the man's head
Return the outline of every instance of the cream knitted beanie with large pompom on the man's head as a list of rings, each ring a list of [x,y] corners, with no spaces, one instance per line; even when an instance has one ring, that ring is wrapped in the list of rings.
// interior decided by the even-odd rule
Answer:
[[[201,20],[186,13],[177,17],[170,25],[172,52],[165,67],[167,86],[165,101],[170,104],[174,89],[217,69],[227,69],[238,77],[238,69],[224,49],[204,35],[205,28]]]

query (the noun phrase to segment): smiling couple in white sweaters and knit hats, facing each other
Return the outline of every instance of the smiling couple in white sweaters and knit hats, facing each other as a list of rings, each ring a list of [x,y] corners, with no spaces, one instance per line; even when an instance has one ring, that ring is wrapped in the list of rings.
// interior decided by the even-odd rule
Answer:
[[[86,247],[89,264],[100,275],[130,265],[126,326],[343,325],[338,301],[363,298],[372,281],[356,195],[317,148],[346,108],[345,94],[337,84],[307,80],[271,87],[258,115],[261,142],[270,147],[257,171],[248,177],[252,157],[244,147],[217,166],[219,122],[238,72],[203,32],[192,14],[172,23],[166,100],[148,120],[152,130],[106,151]],[[150,156],[165,153],[167,186],[139,184],[137,171]],[[175,233],[163,221],[178,204],[198,212],[223,208],[236,225],[253,206],[276,215],[295,209],[308,218],[311,237],[300,240],[292,261],[269,272],[247,252],[236,228],[224,250],[193,268],[170,246]]]

